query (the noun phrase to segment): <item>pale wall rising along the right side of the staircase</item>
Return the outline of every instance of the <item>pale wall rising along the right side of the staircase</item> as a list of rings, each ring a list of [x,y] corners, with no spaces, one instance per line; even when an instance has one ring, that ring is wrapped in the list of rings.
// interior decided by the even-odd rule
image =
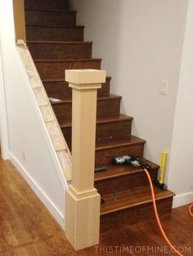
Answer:
[[[122,112],[134,117],[132,134],[147,141],[145,156],[159,164],[170,153],[182,61],[187,0],[72,0],[93,56],[123,96]],[[168,95],[159,94],[168,80]]]

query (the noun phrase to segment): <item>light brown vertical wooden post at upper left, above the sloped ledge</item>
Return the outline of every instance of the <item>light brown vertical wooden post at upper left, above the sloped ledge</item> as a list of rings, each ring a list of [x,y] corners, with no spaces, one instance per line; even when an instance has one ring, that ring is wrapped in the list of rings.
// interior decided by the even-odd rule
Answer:
[[[13,14],[15,23],[16,43],[18,42],[18,40],[23,40],[26,43],[24,0],[13,0]]]

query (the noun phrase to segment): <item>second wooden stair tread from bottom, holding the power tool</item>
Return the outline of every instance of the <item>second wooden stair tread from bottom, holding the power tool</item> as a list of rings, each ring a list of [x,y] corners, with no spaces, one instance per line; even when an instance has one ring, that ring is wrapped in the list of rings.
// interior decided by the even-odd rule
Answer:
[[[152,170],[157,170],[159,168],[158,164],[150,162],[145,159],[147,164],[150,164]],[[144,170],[139,167],[132,167],[130,165],[114,165],[110,164],[106,166],[107,169],[103,172],[95,173],[95,182],[104,181],[114,177],[121,177],[133,173],[142,173]]]

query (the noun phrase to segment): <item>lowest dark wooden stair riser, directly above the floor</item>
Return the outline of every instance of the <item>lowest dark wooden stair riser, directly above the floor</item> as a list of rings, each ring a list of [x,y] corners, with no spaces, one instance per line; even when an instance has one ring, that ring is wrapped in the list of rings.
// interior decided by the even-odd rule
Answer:
[[[158,200],[157,208],[159,215],[171,213],[173,205],[173,197]],[[131,209],[119,210],[115,213],[109,213],[101,216],[101,231],[105,231],[110,227],[123,227],[124,225],[136,224],[146,220],[155,219],[152,203],[141,204]]]

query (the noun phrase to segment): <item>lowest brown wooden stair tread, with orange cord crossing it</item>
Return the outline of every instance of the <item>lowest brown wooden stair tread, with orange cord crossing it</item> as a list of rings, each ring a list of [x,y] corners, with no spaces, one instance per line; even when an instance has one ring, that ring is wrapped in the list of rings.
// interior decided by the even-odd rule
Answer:
[[[154,186],[154,189],[156,201],[164,200],[175,195],[172,191],[163,191],[157,186]],[[128,191],[120,191],[117,194],[117,200],[114,200],[113,194],[105,195],[102,199],[105,200],[105,204],[101,205],[101,215],[152,202],[150,186],[141,186]]]

